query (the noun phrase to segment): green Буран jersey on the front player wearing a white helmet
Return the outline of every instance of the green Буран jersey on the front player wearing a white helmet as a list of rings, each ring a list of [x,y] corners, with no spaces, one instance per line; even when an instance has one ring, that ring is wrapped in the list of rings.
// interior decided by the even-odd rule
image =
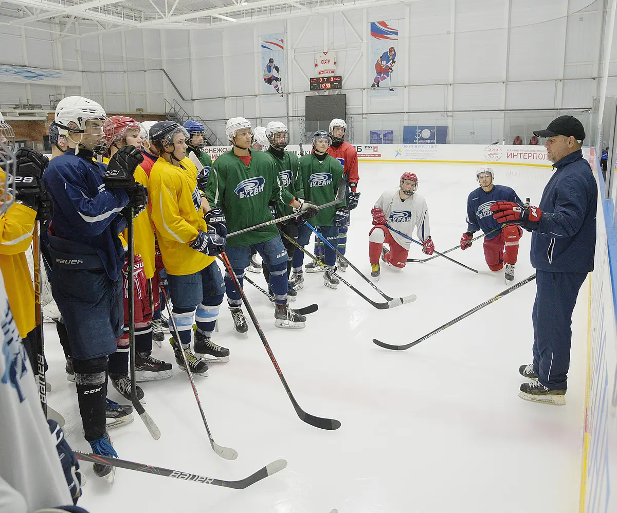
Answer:
[[[294,196],[286,191],[274,162],[266,152],[251,151],[248,166],[237,157],[233,150],[225,152],[215,160],[205,195],[210,206],[221,207],[227,220],[228,232],[234,232],[255,224],[270,221],[272,215],[268,203],[271,201],[289,205]],[[275,224],[263,226],[227,239],[230,247],[249,246],[266,242],[278,235]]]

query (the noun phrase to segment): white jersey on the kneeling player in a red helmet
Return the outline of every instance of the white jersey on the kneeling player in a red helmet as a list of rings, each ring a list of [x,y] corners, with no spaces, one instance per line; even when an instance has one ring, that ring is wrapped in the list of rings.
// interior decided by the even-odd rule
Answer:
[[[400,189],[385,191],[375,202],[375,207],[384,211],[387,224],[392,228],[404,233],[408,237],[413,237],[413,228],[416,227],[418,239],[426,240],[431,236],[431,229],[428,222],[428,207],[426,201],[418,194],[412,194],[401,200],[399,197]],[[395,232],[390,232],[394,240],[405,249],[409,249],[412,241],[405,239]]]

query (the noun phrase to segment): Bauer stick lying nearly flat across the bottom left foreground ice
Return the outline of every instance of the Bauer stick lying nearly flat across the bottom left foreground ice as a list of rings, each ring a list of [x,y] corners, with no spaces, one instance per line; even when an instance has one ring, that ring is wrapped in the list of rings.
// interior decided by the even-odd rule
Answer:
[[[236,490],[244,490],[247,486],[254,485],[268,475],[276,474],[287,466],[284,459],[277,459],[270,464],[257,470],[255,474],[249,475],[239,481],[226,481],[215,477],[205,477],[204,475],[189,474],[189,472],[180,472],[180,470],[165,469],[164,467],[155,467],[154,465],[144,465],[135,461],[127,461],[126,459],[112,458],[111,456],[99,456],[99,454],[82,453],[81,451],[73,451],[77,459],[110,465],[112,467],[120,467],[121,469],[136,470],[137,472],[146,472],[146,474],[163,475],[165,477],[173,477],[183,481],[193,481],[194,483],[203,483],[204,485],[224,486],[225,488],[235,488]]]

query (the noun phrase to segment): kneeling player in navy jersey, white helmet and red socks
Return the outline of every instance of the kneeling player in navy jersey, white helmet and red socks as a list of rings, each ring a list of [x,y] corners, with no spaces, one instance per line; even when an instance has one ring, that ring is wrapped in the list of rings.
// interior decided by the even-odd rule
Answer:
[[[484,260],[491,271],[504,268],[505,281],[513,281],[518,241],[523,229],[516,224],[503,227],[493,219],[491,205],[498,201],[523,203],[510,187],[496,185],[495,173],[489,166],[482,166],[476,171],[480,186],[467,197],[467,231],[461,236],[461,249],[471,247],[474,232],[482,230],[484,237]],[[505,264],[505,266],[504,266]]]

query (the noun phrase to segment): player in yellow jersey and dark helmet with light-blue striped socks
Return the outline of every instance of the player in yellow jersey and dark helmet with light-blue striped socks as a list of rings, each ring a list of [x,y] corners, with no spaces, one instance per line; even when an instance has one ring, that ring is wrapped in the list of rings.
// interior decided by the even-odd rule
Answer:
[[[230,351],[211,338],[225,293],[214,258],[225,250],[225,216],[213,208],[204,220],[197,169],[186,158],[186,129],[175,121],[160,121],[150,129],[150,137],[160,155],[150,173],[152,221],[180,332],[180,340],[170,342],[180,367],[184,368],[180,352],[184,351],[190,371],[207,376],[206,360],[226,362],[230,358]],[[191,351],[193,318],[197,324],[194,350],[203,358]]]

